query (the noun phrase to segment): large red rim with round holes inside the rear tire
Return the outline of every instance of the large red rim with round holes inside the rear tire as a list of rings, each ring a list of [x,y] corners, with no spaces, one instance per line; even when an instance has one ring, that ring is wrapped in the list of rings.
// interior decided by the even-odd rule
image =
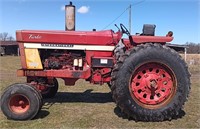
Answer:
[[[140,106],[159,108],[168,104],[176,92],[175,75],[164,64],[145,63],[133,72],[129,90]]]

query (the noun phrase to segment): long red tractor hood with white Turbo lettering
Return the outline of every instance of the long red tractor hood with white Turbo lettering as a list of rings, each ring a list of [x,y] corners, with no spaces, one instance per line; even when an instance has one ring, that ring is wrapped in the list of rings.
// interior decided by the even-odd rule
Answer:
[[[44,31],[44,30],[18,30],[17,42],[28,43],[58,43],[58,44],[90,44],[115,45],[122,34],[112,30],[105,31]]]

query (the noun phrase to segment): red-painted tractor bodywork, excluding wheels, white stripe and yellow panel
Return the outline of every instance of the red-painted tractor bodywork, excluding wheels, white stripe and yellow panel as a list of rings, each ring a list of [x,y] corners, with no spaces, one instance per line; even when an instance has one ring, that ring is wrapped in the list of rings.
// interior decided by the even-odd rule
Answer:
[[[19,43],[22,69],[17,71],[18,76],[62,78],[66,85],[74,85],[78,79],[86,79],[92,83],[103,84],[110,82],[111,68],[105,66],[92,67],[92,58],[113,59],[112,51],[68,51],[68,50],[39,50],[43,59],[44,70],[27,70],[23,43],[48,43],[72,45],[102,45],[115,46],[122,37],[120,31],[43,31],[21,30],[16,33]],[[173,37],[164,36],[131,36],[132,40],[123,39],[126,50],[141,43],[170,42]],[[74,53],[73,53],[74,52]],[[79,54],[79,55],[78,55]],[[82,59],[83,66],[74,66],[75,59]],[[67,62],[67,63],[66,63]],[[76,62],[76,61],[75,61]],[[111,67],[111,66],[109,66]]]

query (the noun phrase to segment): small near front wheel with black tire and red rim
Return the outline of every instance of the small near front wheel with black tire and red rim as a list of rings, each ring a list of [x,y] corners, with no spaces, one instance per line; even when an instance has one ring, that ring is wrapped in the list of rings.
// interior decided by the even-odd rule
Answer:
[[[8,119],[32,119],[41,105],[39,92],[27,84],[13,84],[1,96],[1,110]]]

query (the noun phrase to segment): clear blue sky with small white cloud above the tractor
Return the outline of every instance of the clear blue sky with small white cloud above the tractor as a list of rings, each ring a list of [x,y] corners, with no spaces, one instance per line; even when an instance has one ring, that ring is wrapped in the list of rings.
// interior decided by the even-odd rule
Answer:
[[[120,23],[128,28],[126,9],[132,4],[132,34],[141,33],[143,24],[149,23],[156,24],[156,35],[173,31],[172,43],[200,43],[200,0],[71,1],[76,6],[76,30],[117,31],[114,24]],[[0,32],[15,37],[21,29],[64,30],[66,4],[69,0],[0,0]]]

